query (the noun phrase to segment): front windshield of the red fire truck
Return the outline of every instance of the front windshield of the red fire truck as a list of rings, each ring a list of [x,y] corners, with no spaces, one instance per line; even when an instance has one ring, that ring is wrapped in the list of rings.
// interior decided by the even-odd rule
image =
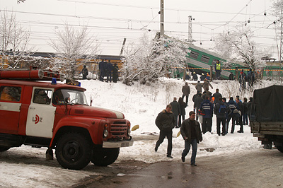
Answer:
[[[86,95],[82,90],[59,89],[54,92],[52,102],[54,105],[88,105]]]

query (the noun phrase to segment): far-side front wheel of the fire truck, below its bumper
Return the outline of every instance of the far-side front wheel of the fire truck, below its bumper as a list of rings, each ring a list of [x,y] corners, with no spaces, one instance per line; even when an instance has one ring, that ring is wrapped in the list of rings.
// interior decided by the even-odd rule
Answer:
[[[95,148],[91,163],[97,166],[111,165],[118,158],[120,148]]]

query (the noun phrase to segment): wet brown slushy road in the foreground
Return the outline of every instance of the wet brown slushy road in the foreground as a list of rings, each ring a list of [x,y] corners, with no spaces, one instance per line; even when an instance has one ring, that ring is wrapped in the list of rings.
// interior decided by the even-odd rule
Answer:
[[[197,167],[189,161],[122,161],[73,187],[283,187],[283,153],[277,149],[197,158]]]

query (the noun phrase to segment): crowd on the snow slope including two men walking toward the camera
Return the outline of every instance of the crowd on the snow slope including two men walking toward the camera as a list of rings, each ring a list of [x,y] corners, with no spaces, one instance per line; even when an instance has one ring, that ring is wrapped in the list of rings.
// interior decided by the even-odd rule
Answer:
[[[213,88],[207,79],[204,80],[204,83],[198,82],[197,86],[195,86],[197,94],[192,97],[194,111],[190,111],[188,119],[185,119],[185,107],[187,107],[187,100],[190,95],[190,86],[187,83],[182,88],[182,98],[179,98],[178,102],[177,98],[174,98],[173,102],[158,114],[156,126],[160,129],[160,135],[156,142],[155,151],[158,151],[158,147],[167,137],[167,157],[173,158],[171,155],[172,129],[180,127],[180,134],[185,140],[185,149],[181,155],[181,160],[185,162],[185,156],[190,151],[190,146],[192,146],[190,164],[196,166],[197,143],[202,141],[202,134],[205,134],[207,131],[212,133],[213,114],[216,115],[216,132],[219,136],[225,136],[228,133],[230,121],[232,121],[231,134],[234,132],[235,124],[240,125],[238,133],[243,133],[243,124],[248,124],[248,114],[250,114],[253,98],[250,98],[249,102],[247,98],[244,98],[244,102],[242,102],[239,96],[236,96],[236,100],[233,100],[233,97],[231,97],[226,102],[226,98],[222,97],[218,88],[212,95],[209,91],[209,86]],[[203,93],[202,88],[204,88]],[[186,102],[183,101],[185,97]],[[201,121],[197,121],[198,117],[201,117]],[[202,126],[200,126],[200,123]]]

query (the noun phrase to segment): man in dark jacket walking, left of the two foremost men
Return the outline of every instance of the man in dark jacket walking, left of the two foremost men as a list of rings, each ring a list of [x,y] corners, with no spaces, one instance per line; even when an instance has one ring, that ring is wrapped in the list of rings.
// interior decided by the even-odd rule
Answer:
[[[164,141],[165,137],[167,137],[167,140],[168,140],[167,157],[168,158],[173,158],[171,155],[172,154],[172,134],[173,134],[172,129],[175,127],[175,118],[171,110],[172,110],[171,105],[167,105],[166,110],[162,110],[162,112],[158,114],[155,120],[155,124],[160,130],[160,134],[159,134],[159,139],[156,142],[154,151],[158,150],[158,147],[160,146],[160,144]]]

